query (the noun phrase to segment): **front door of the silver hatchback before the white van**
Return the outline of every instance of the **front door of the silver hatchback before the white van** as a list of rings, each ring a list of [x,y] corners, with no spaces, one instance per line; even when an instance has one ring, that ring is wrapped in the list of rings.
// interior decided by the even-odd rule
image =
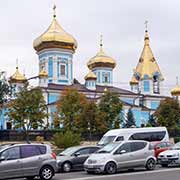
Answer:
[[[113,159],[117,162],[118,168],[129,166],[132,157],[130,156],[130,143],[122,144],[114,153]]]

